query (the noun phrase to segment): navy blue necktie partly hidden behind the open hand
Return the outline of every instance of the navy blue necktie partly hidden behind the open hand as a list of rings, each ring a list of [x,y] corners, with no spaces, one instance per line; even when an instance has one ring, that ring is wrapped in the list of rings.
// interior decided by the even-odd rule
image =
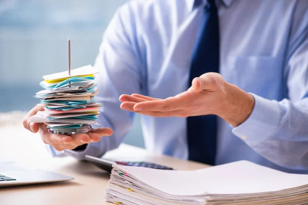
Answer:
[[[200,32],[192,52],[188,87],[195,77],[207,72],[219,72],[219,24],[215,0],[207,0]],[[215,165],[217,117],[202,115],[187,117],[189,159]]]

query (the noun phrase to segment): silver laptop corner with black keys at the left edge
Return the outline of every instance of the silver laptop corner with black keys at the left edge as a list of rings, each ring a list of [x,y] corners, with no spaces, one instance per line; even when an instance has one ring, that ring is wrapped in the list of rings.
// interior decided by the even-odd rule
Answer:
[[[0,187],[68,181],[72,179],[74,178],[71,176],[29,169],[15,162],[0,160]]]

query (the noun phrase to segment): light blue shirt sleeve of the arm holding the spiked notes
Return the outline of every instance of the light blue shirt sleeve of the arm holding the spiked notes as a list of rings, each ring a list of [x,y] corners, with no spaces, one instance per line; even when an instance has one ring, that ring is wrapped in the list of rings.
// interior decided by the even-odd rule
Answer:
[[[98,91],[95,99],[103,104],[99,116],[99,127],[109,127],[112,136],[102,137],[99,142],[90,143],[81,151],[56,151],[47,149],[53,156],[73,156],[84,159],[85,155],[102,156],[105,152],[117,148],[132,126],[133,113],[120,108],[121,94],[140,93],[143,57],[140,40],[136,38],[134,12],[129,4],[120,7],[109,23],[95,59],[94,67],[99,69]],[[94,127],[94,126],[93,126]]]

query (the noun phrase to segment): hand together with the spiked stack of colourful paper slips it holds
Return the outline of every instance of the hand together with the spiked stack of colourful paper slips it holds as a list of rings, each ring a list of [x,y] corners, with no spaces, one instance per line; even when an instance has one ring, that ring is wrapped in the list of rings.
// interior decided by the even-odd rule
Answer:
[[[98,71],[92,66],[70,69],[70,39],[68,53],[68,72],[43,76],[40,85],[45,90],[35,95],[41,98],[41,104],[31,109],[23,122],[26,129],[39,132],[44,143],[57,151],[74,150],[112,135],[110,128],[90,126],[97,124],[102,107],[93,98],[98,93],[94,81]]]

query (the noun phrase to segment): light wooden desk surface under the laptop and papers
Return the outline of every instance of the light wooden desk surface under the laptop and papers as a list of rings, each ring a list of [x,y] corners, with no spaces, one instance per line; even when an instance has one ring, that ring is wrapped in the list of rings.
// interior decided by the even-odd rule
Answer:
[[[114,160],[150,161],[177,170],[195,170],[208,166],[168,156],[148,153],[146,150],[122,144],[106,153]],[[0,204],[111,204],[104,202],[109,174],[89,162],[72,157],[53,158],[47,152],[40,135],[25,130],[22,125],[0,128],[0,160],[12,160],[30,168],[44,169],[75,179],[68,182],[43,185],[0,188]]]

